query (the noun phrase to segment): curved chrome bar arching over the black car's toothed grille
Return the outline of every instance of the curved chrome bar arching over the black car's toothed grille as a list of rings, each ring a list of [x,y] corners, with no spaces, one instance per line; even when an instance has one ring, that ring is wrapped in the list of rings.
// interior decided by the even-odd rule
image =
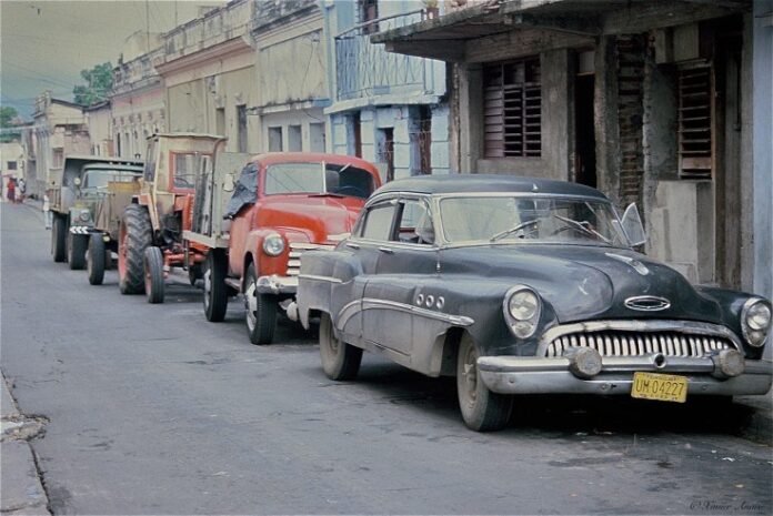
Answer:
[[[638,333],[649,333],[649,332],[675,332],[675,333],[686,333],[692,335],[704,335],[710,336],[721,336],[725,337],[733,343],[737,351],[743,351],[741,341],[737,335],[730,331],[725,326],[711,323],[701,323],[695,321],[669,321],[669,320],[645,320],[645,321],[588,321],[583,323],[571,323],[562,324],[559,326],[553,326],[545,331],[540,337],[536,356],[544,356],[548,351],[548,346],[551,342],[564,335],[572,333],[594,333],[603,331],[625,331],[625,332],[638,332]],[[663,335],[660,335],[661,337]],[[652,351],[649,335],[644,336],[647,342],[647,352]],[[657,335],[652,336],[657,338]],[[611,344],[609,337],[604,337],[604,342],[608,346]],[[662,344],[665,344],[663,338]],[[611,346],[610,346],[611,347]],[[609,354],[609,352],[606,353]]]

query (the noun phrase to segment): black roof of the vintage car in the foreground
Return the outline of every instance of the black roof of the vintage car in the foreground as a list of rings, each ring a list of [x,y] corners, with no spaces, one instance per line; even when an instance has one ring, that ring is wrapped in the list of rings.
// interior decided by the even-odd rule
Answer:
[[[498,174],[421,175],[399,179],[381,186],[373,195],[390,192],[426,194],[513,192],[581,195],[608,200],[608,198],[596,189],[583,184],[540,178]]]

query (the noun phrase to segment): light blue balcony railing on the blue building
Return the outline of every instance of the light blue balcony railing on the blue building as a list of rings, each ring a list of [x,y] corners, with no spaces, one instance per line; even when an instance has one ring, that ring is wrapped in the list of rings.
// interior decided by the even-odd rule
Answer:
[[[425,92],[429,62],[422,58],[386,52],[370,42],[371,34],[416,23],[423,10],[360,23],[335,37],[338,100],[388,93]]]

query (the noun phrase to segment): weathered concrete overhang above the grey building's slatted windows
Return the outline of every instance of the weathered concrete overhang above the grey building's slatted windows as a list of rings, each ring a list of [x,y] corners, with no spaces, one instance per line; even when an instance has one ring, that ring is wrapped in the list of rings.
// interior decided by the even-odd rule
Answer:
[[[379,32],[390,52],[466,61],[468,45],[510,32],[558,33],[570,39],[636,33],[751,10],[752,0],[504,0],[485,2],[411,26]]]

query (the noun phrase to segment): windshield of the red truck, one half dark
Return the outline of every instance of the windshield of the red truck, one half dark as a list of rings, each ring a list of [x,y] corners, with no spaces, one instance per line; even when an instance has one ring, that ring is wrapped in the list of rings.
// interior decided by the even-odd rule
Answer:
[[[267,195],[305,193],[368,199],[373,176],[350,164],[278,163],[265,171]]]

